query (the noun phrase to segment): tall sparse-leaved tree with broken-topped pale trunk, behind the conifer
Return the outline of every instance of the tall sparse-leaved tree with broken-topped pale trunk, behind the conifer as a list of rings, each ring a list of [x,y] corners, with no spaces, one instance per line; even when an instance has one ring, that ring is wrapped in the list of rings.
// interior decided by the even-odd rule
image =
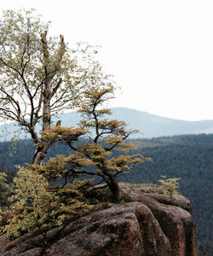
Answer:
[[[82,44],[68,49],[64,37],[48,37],[49,23],[35,11],[3,12],[0,21],[0,118],[17,122],[37,146],[32,162],[41,165],[54,143],[43,141],[51,116],[74,108],[82,89],[111,84],[95,61],[95,50]],[[91,51],[92,49],[92,51]]]

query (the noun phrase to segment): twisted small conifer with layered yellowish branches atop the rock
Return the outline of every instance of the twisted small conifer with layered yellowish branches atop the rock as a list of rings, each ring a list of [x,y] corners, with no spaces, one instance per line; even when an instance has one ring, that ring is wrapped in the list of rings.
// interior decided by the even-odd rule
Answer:
[[[136,130],[126,130],[127,124],[117,119],[107,119],[105,115],[112,114],[110,109],[101,108],[101,105],[112,98],[114,88],[92,87],[83,91],[83,101],[79,102],[78,112],[82,113],[83,120],[78,129],[55,126],[49,131],[43,131],[43,140],[53,139],[66,143],[73,150],[66,166],[60,169],[64,175],[75,177],[90,175],[100,177],[98,183],[106,183],[112,192],[112,200],[119,201],[119,187],[117,178],[123,172],[130,172],[130,167],[151,160],[141,154],[128,154],[130,149],[135,149],[132,144],[125,143]],[[80,133],[79,133],[80,131]],[[83,135],[84,133],[84,135]],[[73,139],[73,134],[78,139]],[[75,141],[78,140],[78,143]],[[111,158],[112,150],[122,150],[117,158]],[[60,160],[64,162],[64,160]],[[84,166],[82,164],[84,163]],[[85,168],[89,166],[90,168]],[[56,177],[57,172],[51,168],[50,177]]]

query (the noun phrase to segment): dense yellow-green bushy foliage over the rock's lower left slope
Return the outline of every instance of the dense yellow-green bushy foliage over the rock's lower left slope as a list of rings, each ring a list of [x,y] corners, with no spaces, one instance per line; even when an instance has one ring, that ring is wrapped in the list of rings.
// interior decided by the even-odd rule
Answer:
[[[10,198],[12,218],[4,228],[8,236],[17,237],[35,228],[45,230],[49,224],[63,224],[90,208],[80,192],[87,181],[75,181],[53,189],[42,174],[21,167],[14,183],[15,195]]]

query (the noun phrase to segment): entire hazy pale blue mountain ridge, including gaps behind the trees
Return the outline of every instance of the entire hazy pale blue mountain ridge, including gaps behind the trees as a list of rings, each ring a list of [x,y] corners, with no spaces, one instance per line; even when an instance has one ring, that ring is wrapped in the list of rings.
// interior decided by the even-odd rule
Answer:
[[[213,133],[213,120],[185,121],[169,119],[131,108],[112,108],[112,116],[107,118],[124,120],[129,124],[128,129],[137,129],[142,132],[142,134],[136,134],[132,138]],[[74,126],[80,120],[80,114],[76,112],[59,114],[57,117],[53,117],[53,124],[58,119],[61,119],[61,125],[63,126]],[[0,132],[2,134],[0,140],[5,139],[5,137],[7,140],[11,139],[14,136],[14,131],[17,130],[19,130],[19,126],[14,125],[14,123],[0,125]],[[40,127],[37,127],[38,130],[40,130]],[[24,137],[24,132],[20,132],[20,138]]]

